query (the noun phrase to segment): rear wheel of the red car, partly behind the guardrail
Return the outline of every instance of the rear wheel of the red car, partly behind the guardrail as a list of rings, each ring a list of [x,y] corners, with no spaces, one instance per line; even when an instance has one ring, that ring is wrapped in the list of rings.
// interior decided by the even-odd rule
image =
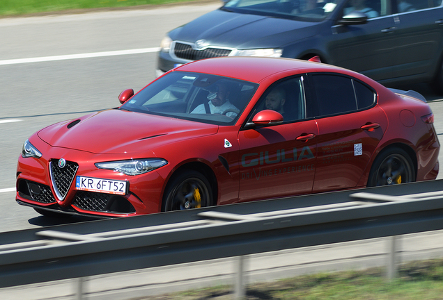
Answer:
[[[412,159],[406,151],[393,147],[375,158],[368,178],[368,187],[410,183],[416,180]]]

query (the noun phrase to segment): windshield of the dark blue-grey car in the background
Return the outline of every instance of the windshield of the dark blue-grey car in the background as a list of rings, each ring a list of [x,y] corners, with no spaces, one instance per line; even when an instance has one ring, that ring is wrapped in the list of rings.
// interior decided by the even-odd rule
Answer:
[[[222,8],[254,15],[319,22],[330,15],[341,0],[231,0]]]

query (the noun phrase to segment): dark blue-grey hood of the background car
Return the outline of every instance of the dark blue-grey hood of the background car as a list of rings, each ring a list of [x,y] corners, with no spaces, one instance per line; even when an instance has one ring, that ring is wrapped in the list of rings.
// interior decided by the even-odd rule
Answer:
[[[237,49],[283,47],[316,35],[316,22],[214,10],[169,33],[172,40],[205,40],[211,46]]]

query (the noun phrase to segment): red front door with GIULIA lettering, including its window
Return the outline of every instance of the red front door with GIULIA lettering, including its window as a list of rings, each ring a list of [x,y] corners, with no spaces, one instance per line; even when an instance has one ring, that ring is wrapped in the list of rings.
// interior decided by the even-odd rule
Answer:
[[[311,193],[318,130],[306,119],[303,78],[272,85],[254,109],[276,110],[283,123],[240,131],[239,201]]]

